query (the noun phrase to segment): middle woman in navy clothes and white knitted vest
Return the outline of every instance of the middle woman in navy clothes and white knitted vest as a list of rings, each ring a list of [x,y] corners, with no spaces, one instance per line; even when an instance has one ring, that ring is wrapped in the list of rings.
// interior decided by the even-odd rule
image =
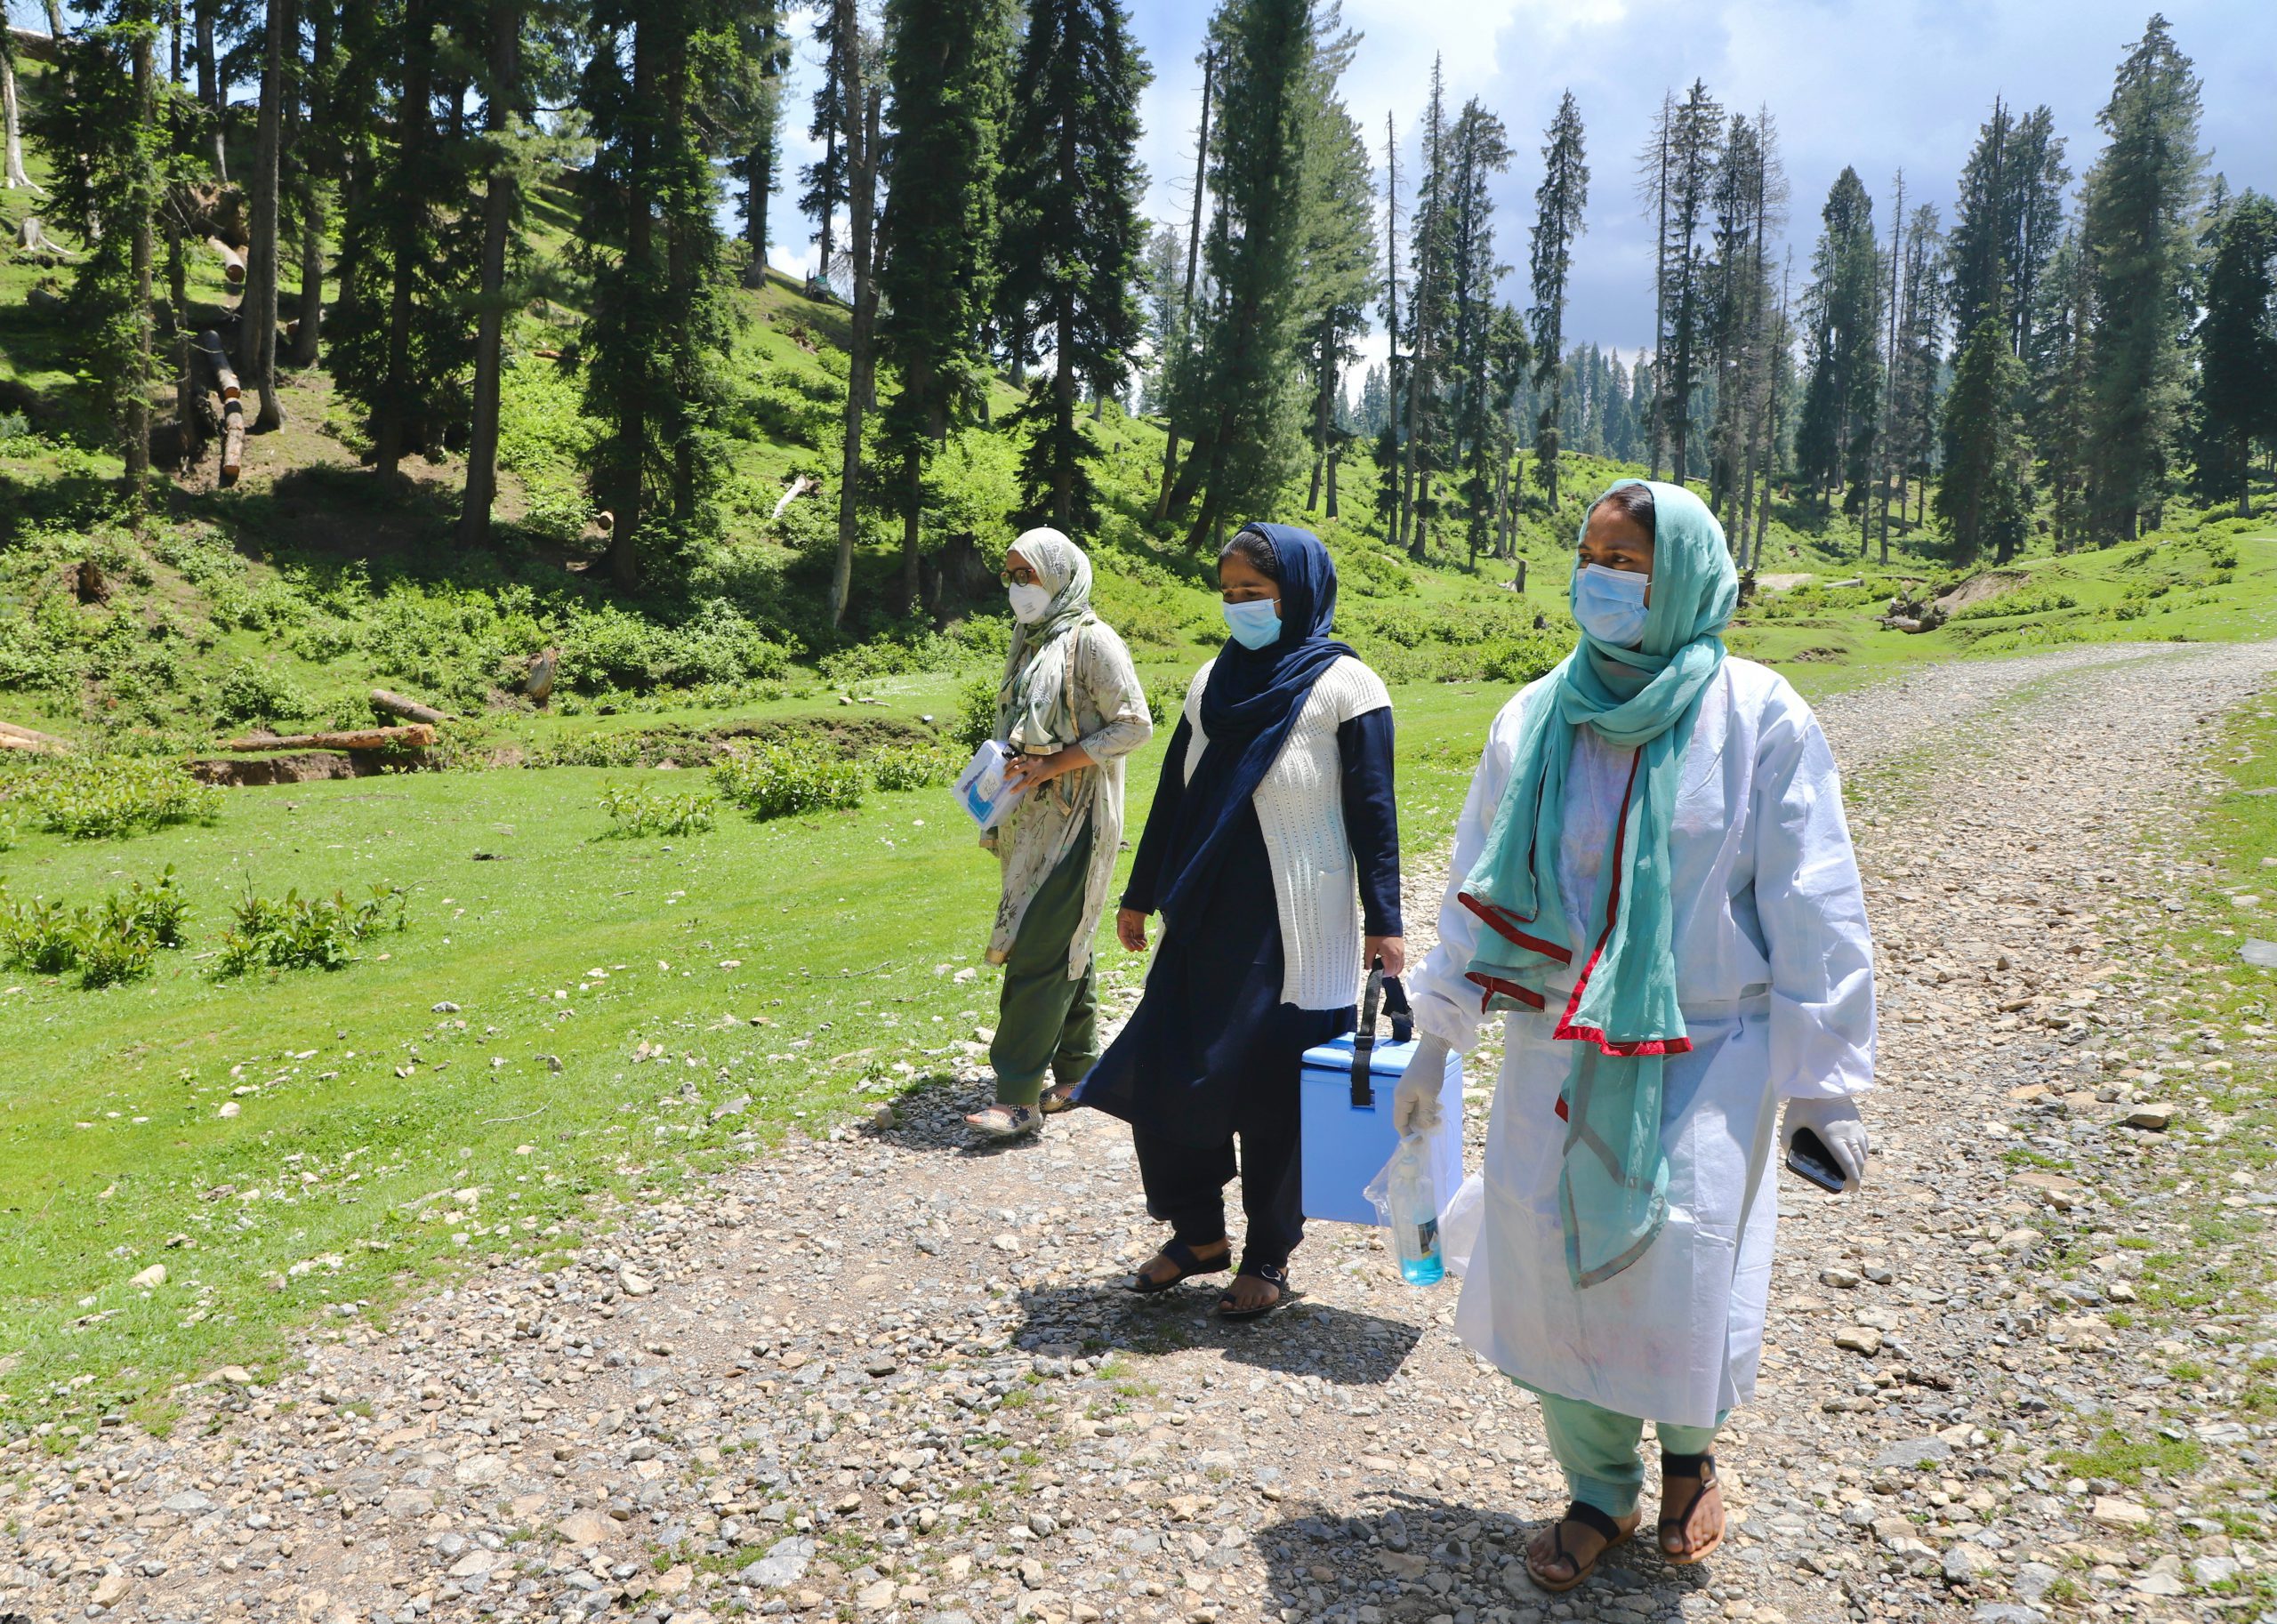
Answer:
[[[1234,635],[1186,692],[1116,916],[1116,936],[1143,952],[1159,911],[1161,948],[1075,1098],[1132,1125],[1148,1212],[1173,1225],[1134,1291],[1232,1262],[1225,1184],[1239,1173],[1248,1237],[1218,1312],[1257,1319],[1289,1301],[1305,1235],[1302,1055],[1353,1030],[1364,957],[1398,975],[1405,943],[1391,699],[1330,635],[1327,549],[1250,524],[1218,583]],[[1321,938],[1284,941],[1284,920],[1318,922]]]

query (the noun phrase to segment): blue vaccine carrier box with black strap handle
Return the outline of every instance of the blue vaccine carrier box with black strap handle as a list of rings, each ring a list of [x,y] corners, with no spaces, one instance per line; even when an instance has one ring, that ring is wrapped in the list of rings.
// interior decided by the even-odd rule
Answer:
[[[1391,1016],[1391,1041],[1375,1036],[1382,1002]],[[1391,1125],[1391,1096],[1414,1059],[1414,1018],[1398,979],[1368,973],[1359,1007],[1359,1030],[1305,1050],[1300,1077],[1305,1216],[1325,1223],[1375,1223],[1366,1189],[1400,1134]],[[1462,1057],[1446,1057],[1439,1084],[1439,1127],[1430,1134],[1432,1187],[1444,1207],[1462,1187]]]

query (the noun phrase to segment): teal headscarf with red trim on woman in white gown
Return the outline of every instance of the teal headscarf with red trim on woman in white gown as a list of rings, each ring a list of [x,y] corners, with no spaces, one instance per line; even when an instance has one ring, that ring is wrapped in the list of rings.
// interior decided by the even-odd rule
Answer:
[[[1605,494],[1639,483],[1614,481]],[[1701,690],[1724,665],[1717,633],[1740,599],[1724,526],[1708,506],[1680,485],[1655,481],[1649,490],[1653,601],[1644,642],[1619,649],[1583,633],[1544,679],[1526,708],[1487,850],[1462,886],[1462,902],[1491,927],[1469,966],[1487,989],[1487,1009],[1544,1009],[1551,973],[1580,959],[1557,1020],[1557,1036],[1576,1045],[1557,1096],[1567,1123],[1557,1200],[1576,1287],[1637,1262],[1669,1212],[1662,1066],[1692,1050],[1676,1004],[1669,825]],[[1580,724],[1637,754],[1589,920],[1567,920],[1557,843]]]

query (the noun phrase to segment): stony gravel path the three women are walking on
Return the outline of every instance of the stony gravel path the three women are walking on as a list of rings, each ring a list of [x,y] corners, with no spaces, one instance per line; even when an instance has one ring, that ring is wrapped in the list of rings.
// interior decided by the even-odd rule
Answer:
[[[2175,888],[2206,722],[2272,667],[2063,651],[1824,706],[1883,963],[1879,1164],[1851,1200],[1783,1191],[1705,1567],[1642,1540],[1551,1604],[1514,1556],[1557,1481],[1532,1401],[1446,1332],[1453,1289],[1316,1225],[1273,1321],[1134,1303],[1111,1282],[1159,1230],[1120,1125],[975,1153],[970,1100],[934,1091],[606,1214],[569,1266],[314,1328],[266,1387],[189,1389],[171,1440],[11,1446],[0,1619],[2257,1617],[2218,1592],[2277,1544],[2213,1485],[2252,1481],[2259,1428],[2111,1307],[2188,1173],[2179,1130],[2124,1118],[2229,1064],[2129,941]],[[1414,877],[1419,925],[1441,881]],[[2200,1467],[2052,1460],[2106,1428]]]

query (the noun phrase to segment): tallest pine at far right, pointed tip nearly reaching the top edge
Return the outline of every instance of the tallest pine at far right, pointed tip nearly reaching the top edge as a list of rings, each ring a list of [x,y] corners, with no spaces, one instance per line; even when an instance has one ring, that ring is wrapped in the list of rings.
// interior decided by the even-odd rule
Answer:
[[[2106,540],[2129,540],[2165,499],[2195,314],[2197,75],[2163,16],[2120,64],[2097,125],[2109,143],[2083,187],[2095,264],[2088,522]]]

